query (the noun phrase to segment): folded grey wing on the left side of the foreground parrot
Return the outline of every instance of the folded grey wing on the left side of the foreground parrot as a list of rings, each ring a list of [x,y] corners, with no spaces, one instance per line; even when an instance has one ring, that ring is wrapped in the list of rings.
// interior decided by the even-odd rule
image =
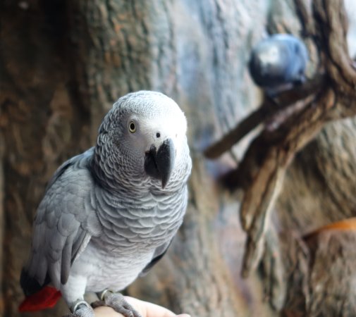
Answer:
[[[92,149],[73,157],[56,171],[37,209],[32,254],[20,283],[26,295],[48,282],[65,284],[70,266],[101,225],[93,207],[90,173]]]

